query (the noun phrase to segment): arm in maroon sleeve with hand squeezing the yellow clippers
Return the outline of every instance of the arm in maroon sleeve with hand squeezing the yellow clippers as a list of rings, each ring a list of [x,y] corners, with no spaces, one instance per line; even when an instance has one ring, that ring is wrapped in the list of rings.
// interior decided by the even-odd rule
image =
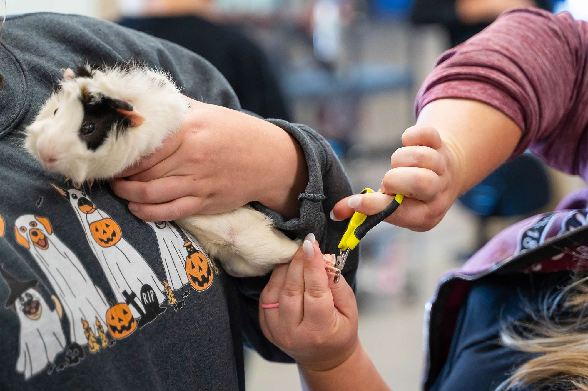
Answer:
[[[417,97],[420,125],[384,178],[384,193],[410,196],[387,221],[435,227],[459,193],[528,147],[588,178],[587,37],[588,24],[569,14],[518,9],[443,53]],[[386,194],[343,200],[333,214],[375,214]]]

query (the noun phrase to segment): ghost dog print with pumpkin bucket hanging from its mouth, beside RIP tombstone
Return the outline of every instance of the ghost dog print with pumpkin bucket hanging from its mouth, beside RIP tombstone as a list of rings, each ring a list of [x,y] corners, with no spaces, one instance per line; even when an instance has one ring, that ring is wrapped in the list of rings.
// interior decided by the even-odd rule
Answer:
[[[139,252],[125,240],[121,227],[81,190],[52,184],[74,208],[88,244],[115,292],[116,300],[131,308],[139,328],[165,311],[165,288]],[[78,320],[79,321],[79,320]]]

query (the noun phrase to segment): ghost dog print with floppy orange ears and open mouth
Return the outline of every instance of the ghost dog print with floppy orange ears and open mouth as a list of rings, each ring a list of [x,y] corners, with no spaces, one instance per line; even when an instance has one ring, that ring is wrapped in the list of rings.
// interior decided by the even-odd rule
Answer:
[[[102,290],[94,285],[74,252],[57,237],[48,218],[21,215],[14,232],[16,241],[29,250],[64,307],[70,342],[85,345],[88,340],[81,319],[88,319],[92,325],[95,318],[105,321],[109,305]]]

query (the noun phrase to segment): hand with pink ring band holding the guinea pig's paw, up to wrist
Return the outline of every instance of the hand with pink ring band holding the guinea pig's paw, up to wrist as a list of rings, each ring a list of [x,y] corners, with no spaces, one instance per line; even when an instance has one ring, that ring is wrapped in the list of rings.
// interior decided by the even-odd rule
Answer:
[[[358,309],[345,278],[333,284],[314,236],[308,235],[292,263],[279,265],[260,295],[265,336],[300,368],[324,371],[358,349]],[[279,303],[278,307],[262,305]]]

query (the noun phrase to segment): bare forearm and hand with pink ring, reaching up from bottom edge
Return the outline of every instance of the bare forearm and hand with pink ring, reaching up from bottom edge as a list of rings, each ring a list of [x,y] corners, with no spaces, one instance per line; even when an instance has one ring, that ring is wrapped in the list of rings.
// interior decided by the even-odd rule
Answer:
[[[306,388],[389,390],[359,342],[353,291],[345,278],[333,284],[312,235],[289,265],[274,269],[260,296],[259,322],[269,341],[296,360]]]

